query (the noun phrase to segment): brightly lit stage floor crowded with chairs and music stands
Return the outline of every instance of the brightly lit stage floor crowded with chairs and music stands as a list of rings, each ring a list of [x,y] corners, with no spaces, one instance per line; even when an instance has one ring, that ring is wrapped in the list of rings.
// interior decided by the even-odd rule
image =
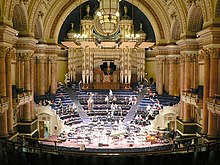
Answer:
[[[172,149],[173,143],[166,138],[166,132],[148,130],[136,125],[88,125],[66,128],[57,136],[50,136],[49,140],[60,140],[56,146],[62,150],[87,152],[145,152]],[[50,142],[43,142],[50,146]]]

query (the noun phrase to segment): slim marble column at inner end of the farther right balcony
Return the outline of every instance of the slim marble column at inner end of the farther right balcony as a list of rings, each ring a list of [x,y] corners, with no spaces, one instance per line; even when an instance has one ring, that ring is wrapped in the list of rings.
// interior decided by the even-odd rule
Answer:
[[[184,118],[184,102],[182,101],[182,92],[184,91],[185,59],[180,57],[180,119]]]

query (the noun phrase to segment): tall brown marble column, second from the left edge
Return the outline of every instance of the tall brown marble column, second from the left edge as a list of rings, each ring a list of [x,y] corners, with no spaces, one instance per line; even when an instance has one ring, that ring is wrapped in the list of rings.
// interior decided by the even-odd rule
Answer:
[[[12,80],[11,80],[11,56],[14,54],[14,49],[9,48],[6,55],[6,94],[9,98],[9,107],[7,111],[8,132],[13,132],[13,109],[12,109]]]

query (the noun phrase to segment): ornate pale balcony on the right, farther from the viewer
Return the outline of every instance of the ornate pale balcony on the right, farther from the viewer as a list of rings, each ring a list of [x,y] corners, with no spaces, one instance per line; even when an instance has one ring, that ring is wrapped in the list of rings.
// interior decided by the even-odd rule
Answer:
[[[202,108],[203,100],[198,94],[193,94],[191,91],[182,92],[182,101],[191,104],[197,108]]]

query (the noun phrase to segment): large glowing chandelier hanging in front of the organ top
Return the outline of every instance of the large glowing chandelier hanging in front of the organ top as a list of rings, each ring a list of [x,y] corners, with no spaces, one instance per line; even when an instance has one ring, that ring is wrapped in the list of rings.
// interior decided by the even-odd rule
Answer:
[[[100,0],[100,7],[95,16],[95,29],[104,36],[113,35],[119,27],[120,0]]]

